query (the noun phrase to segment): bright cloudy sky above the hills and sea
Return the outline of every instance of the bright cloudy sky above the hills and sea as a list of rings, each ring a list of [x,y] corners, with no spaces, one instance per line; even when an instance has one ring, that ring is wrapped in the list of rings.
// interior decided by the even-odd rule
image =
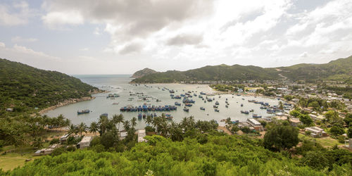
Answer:
[[[0,58],[70,75],[351,55],[352,0],[0,1]]]

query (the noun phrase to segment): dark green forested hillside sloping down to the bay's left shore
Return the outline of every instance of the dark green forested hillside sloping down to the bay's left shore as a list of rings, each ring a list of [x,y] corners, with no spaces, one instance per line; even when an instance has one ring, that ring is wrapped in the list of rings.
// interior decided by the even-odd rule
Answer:
[[[46,108],[66,99],[91,96],[97,90],[63,73],[0,59],[0,113],[6,108],[15,112]]]

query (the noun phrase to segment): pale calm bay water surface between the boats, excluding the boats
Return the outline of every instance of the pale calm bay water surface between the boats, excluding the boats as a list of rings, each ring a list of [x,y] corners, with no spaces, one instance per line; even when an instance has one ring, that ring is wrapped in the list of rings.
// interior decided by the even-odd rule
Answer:
[[[57,116],[59,114],[63,114],[65,118],[70,119],[74,124],[78,124],[80,122],[85,122],[89,125],[93,121],[97,121],[99,119],[99,115],[102,113],[108,113],[108,117],[112,118],[112,115],[119,114],[120,108],[127,105],[139,106],[143,105],[143,103],[156,105],[156,106],[165,106],[165,105],[174,105],[175,101],[182,103],[182,99],[171,99],[170,93],[168,90],[162,91],[163,87],[168,89],[175,90],[175,96],[184,94],[188,91],[193,91],[191,95],[197,94],[197,96],[193,96],[191,99],[194,99],[196,103],[193,106],[189,107],[189,113],[183,111],[184,104],[182,106],[177,106],[177,111],[169,111],[164,113],[170,113],[176,122],[180,122],[182,118],[189,117],[191,115],[194,116],[196,120],[218,120],[220,123],[221,119],[230,117],[232,120],[240,120],[244,121],[247,118],[252,117],[252,113],[249,115],[243,114],[240,111],[249,111],[254,109],[253,113],[258,115],[269,116],[270,114],[266,113],[266,110],[260,109],[260,104],[249,103],[249,99],[256,99],[257,101],[264,101],[270,103],[270,105],[277,105],[277,99],[267,99],[263,97],[254,97],[254,96],[232,96],[231,94],[221,95],[219,96],[208,96],[211,98],[215,98],[215,101],[219,101],[219,110],[220,112],[215,112],[213,102],[202,101],[198,98],[199,92],[207,92],[211,93],[212,90],[208,87],[208,85],[204,84],[147,84],[148,87],[141,84],[139,86],[134,86],[133,84],[128,84],[132,79],[130,75],[75,75],[75,77],[82,80],[82,82],[86,82],[87,84],[91,84],[94,87],[99,87],[99,89],[108,90],[107,94],[94,94],[96,99],[92,101],[82,101],[79,103],[70,104],[68,106],[63,106],[61,108],[56,108],[53,111],[49,111],[46,115],[49,116]],[[158,89],[160,87],[160,89]],[[155,99],[150,99],[150,102],[140,101],[137,96],[130,96],[130,92],[143,92],[146,96],[152,96]],[[106,99],[108,94],[119,94],[120,97],[115,99]],[[203,95],[205,98],[205,95]],[[134,98],[132,101],[128,101],[129,98]],[[161,100],[161,102],[156,102],[156,99]],[[229,108],[225,107],[225,101],[230,103]],[[118,103],[118,105],[113,105],[113,103]],[[241,107],[241,103],[244,104]],[[200,107],[206,108],[206,111],[201,111]],[[89,109],[92,111],[91,113],[77,115],[78,110]],[[158,115],[161,115],[161,112],[155,112]],[[133,117],[137,118],[138,112],[123,112],[125,120],[130,120]],[[220,125],[222,125],[220,123]],[[137,128],[142,128],[145,126],[144,120],[138,120]]]

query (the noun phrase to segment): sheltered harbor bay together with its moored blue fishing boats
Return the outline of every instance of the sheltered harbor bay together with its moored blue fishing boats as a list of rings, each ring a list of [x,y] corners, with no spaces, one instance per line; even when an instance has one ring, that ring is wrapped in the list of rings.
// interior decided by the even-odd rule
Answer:
[[[125,120],[138,118],[137,127],[144,127],[146,122],[143,116],[154,116],[154,113],[158,116],[170,115],[175,122],[180,122],[182,118],[189,116],[194,116],[196,120],[214,119],[218,122],[229,117],[239,121],[253,118],[253,115],[265,118],[275,115],[268,109],[274,109],[279,103],[277,99],[246,94],[219,95],[206,84],[129,84],[131,79],[127,76],[108,78],[81,78],[82,81],[104,89],[108,93],[94,94],[96,98],[92,101],[72,103],[48,111],[46,115],[63,114],[74,124],[80,122],[89,124],[98,120],[103,113],[108,113],[108,118],[121,113]],[[263,104],[249,102],[252,100]],[[252,109],[253,112],[248,114],[241,113]],[[89,110],[89,113],[77,115],[77,112],[84,110]],[[142,118],[139,118],[139,114]]]

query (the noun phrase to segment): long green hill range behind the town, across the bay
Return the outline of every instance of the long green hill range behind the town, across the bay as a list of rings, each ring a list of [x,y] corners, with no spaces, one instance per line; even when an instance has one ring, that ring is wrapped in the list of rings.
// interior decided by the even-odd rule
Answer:
[[[143,73],[142,70],[137,73]],[[154,71],[155,72],[155,71]],[[134,73],[134,74],[137,74]],[[139,75],[139,74],[137,74]],[[207,83],[218,81],[246,81],[246,80],[303,80],[315,82],[332,80],[352,83],[352,56],[339,58],[324,64],[301,63],[289,67],[261,68],[253,65],[214,65],[196,68],[194,70],[169,70],[163,73],[145,74],[135,77],[132,83]]]

